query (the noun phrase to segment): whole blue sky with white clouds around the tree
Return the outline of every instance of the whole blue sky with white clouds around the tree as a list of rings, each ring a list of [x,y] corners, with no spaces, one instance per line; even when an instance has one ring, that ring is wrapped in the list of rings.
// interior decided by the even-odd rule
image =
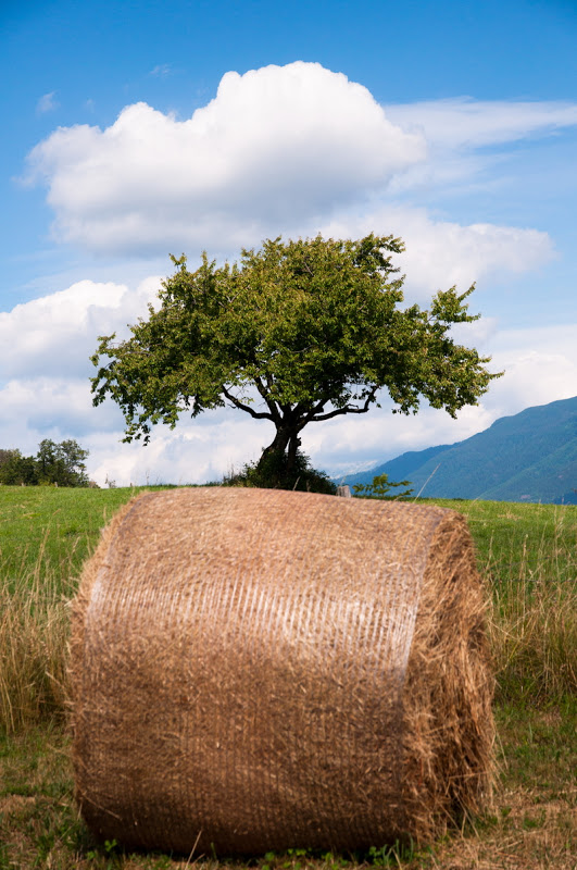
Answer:
[[[122,445],[88,357],[146,313],[170,251],[235,258],[279,234],[401,235],[407,301],[475,281],[464,340],[506,370],[456,421],[385,401],[310,426],[316,465],[577,394],[573,0],[4,0],[0,64],[0,446],[75,437],[120,484],[255,458],[272,433],[233,411]]]

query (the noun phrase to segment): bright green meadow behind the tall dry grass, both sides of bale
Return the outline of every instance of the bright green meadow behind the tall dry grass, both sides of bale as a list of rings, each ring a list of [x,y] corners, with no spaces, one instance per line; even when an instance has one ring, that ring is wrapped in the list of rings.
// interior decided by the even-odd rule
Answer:
[[[145,488],[161,487],[0,486],[1,576],[33,575],[39,559],[42,575],[77,576],[100,530]],[[577,507],[448,499],[434,504],[467,517],[479,567],[493,583],[537,577],[575,581]]]

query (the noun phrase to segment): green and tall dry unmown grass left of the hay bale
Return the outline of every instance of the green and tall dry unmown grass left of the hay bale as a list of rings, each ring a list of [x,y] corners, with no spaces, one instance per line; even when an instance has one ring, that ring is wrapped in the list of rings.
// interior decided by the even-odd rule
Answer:
[[[62,717],[67,602],[102,527],[138,492],[0,486],[0,731]]]

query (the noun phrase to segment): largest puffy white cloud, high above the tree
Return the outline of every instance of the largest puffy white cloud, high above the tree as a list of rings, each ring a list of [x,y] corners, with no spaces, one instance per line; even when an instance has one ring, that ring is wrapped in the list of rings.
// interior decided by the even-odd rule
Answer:
[[[59,128],[29,177],[49,188],[60,239],[150,253],[309,223],[425,156],[365,87],[299,61],[226,73],[185,121],[140,102],[104,130]]]

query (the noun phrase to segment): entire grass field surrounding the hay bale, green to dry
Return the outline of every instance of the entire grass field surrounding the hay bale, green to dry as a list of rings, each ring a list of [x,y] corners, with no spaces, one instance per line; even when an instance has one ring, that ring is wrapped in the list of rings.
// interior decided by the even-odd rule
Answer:
[[[97,845],[74,807],[63,712],[67,600],[101,527],[136,492],[0,487],[0,870],[217,866]],[[467,515],[492,596],[494,806],[423,850],[375,844],[365,856],[293,852],[252,866],[576,870],[577,507],[436,504]]]

